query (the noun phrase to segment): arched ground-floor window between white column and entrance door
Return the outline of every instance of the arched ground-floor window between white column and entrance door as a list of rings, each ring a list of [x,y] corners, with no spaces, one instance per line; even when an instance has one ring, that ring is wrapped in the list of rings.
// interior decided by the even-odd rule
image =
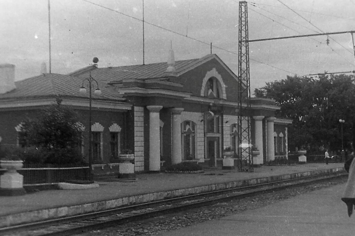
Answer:
[[[191,120],[181,123],[181,152],[183,160],[195,159],[196,124]]]

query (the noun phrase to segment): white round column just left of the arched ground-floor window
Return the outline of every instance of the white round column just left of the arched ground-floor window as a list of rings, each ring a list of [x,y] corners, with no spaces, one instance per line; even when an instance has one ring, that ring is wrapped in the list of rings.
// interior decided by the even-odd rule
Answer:
[[[171,163],[181,162],[181,112],[184,108],[171,108]]]

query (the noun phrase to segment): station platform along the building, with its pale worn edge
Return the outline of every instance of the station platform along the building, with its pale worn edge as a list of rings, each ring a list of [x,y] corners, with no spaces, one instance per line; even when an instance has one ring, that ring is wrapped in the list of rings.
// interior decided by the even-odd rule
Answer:
[[[204,173],[195,174],[138,174],[136,180],[111,178],[95,181],[99,187],[91,189],[46,190],[22,196],[0,196],[0,228],[192,193],[331,172],[344,172],[344,163],[262,166],[254,168],[254,172],[205,169]]]

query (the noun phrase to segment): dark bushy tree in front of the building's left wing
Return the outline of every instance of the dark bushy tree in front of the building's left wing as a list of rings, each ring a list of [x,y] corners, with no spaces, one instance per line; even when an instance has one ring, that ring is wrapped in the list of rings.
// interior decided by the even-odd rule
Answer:
[[[21,133],[27,146],[39,148],[46,163],[77,163],[81,132],[76,113],[61,105],[61,100],[40,112],[39,117],[22,123]]]

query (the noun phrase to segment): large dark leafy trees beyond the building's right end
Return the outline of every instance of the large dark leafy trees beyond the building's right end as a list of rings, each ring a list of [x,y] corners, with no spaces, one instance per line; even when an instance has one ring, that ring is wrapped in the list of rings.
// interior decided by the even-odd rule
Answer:
[[[319,78],[288,76],[255,89],[257,97],[275,100],[281,109],[278,117],[293,120],[289,129],[289,150],[305,146],[341,149],[343,123],[344,148],[350,149],[354,138],[355,84],[351,75],[320,75]]]

